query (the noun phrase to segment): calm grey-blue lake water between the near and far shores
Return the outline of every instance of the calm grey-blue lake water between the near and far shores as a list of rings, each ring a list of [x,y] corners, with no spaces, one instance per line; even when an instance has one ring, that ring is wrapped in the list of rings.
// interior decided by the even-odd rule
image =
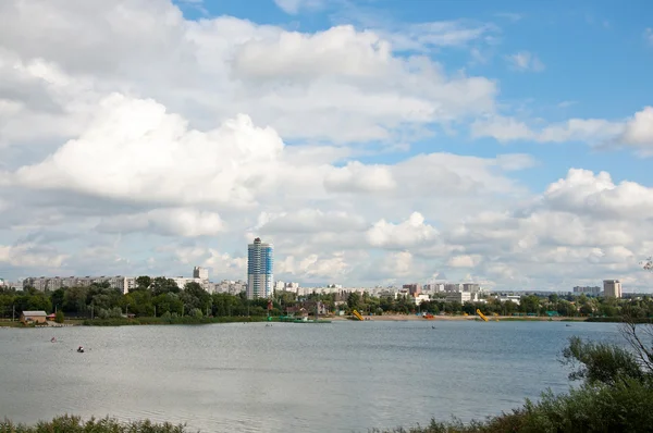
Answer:
[[[619,341],[615,324],[562,322],[0,329],[0,418],[111,415],[202,432],[483,418],[568,389],[557,359],[570,335]]]

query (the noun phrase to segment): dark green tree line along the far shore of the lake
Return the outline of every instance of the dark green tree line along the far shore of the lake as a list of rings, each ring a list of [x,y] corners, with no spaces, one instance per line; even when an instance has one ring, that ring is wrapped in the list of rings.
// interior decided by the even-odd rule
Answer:
[[[515,313],[544,316],[555,311],[564,317],[607,317],[624,314],[642,319],[653,317],[653,298],[615,299],[555,294],[549,297],[521,296],[519,304],[500,301],[489,296],[484,302],[448,302],[443,294],[416,306],[406,296],[375,297],[369,293],[309,294],[298,297],[292,292],[278,292],[272,299],[272,316],[285,313],[287,307],[305,301],[321,301],[329,311],[356,309],[364,314],[418,313],[473,314],[477,309],[484,314],[513,316]],[[246,317],[266,316],[267,299],[247,300],[245,293],[231,295],[209,294],[200,284],[187,283],[180,289],[174,280],[139,276],[136,287],[130,293],[111,288],[109,283],[93,283],[89,286],[66,287],[40,292],[34,287],[24,290],[0,288],[0,317],[7,319],[24,310],[44,310],[48,313],[63,311],[67,317],[119,318],[123,314],[138,317],[195,316],[195,317]]]

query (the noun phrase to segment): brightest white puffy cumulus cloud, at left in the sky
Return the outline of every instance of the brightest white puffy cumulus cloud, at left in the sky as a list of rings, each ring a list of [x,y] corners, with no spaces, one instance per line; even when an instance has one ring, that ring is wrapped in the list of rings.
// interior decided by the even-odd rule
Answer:
[[[79,138],[21,168],[13,180],[123,200],[247,205],[267,176],[262,169],[282,151],[276,133],[255,127],[246,115],[200,133],[155,101],[115,94]]]

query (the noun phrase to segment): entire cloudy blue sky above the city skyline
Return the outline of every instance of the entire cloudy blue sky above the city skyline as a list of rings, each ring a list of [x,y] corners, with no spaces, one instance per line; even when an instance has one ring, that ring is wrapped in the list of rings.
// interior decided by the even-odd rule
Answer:
[[[653,3],[3,0],[0,277],[653,292]]]

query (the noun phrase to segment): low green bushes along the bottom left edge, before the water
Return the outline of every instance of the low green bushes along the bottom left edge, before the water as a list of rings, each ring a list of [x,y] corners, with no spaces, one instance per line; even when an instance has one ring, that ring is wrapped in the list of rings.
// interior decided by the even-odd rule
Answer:
[[[63,416],[41,421],[34,426],[0,422],[0,433],[187,433],[184,425],[156,424],[151,421],[120,422],[111,418],[83,421],[79,417]]]

